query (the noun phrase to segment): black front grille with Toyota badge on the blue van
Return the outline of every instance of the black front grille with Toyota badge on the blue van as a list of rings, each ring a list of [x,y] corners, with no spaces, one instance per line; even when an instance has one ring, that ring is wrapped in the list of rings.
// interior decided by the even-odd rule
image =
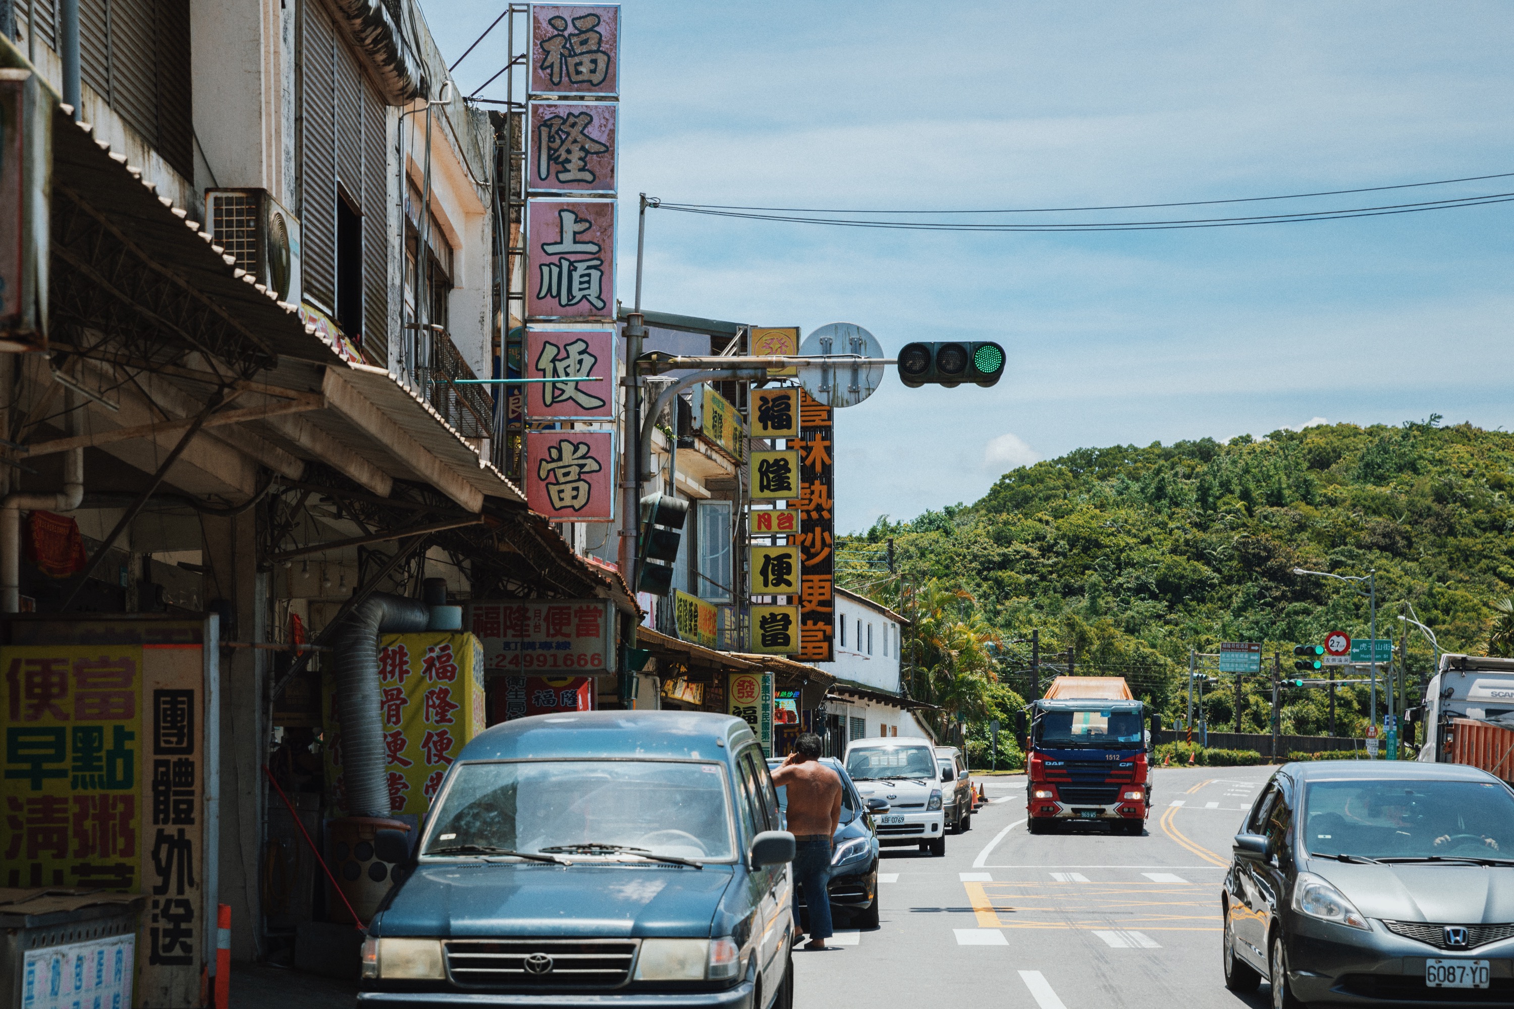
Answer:
[[[448,939],[447,974],[469,988],[618,988],[636,939]]]

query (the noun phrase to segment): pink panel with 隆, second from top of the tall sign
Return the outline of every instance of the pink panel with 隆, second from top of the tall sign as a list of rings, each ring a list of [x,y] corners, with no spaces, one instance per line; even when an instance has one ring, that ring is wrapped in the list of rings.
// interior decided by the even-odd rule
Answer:
[[[613,197],[618,112],[613,101],[533,101],[525,188]]]

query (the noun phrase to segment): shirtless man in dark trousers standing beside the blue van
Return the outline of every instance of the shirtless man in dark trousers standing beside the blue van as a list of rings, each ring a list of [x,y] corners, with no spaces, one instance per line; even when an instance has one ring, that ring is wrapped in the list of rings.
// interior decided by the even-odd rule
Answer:
[[[772,773],[772,784],[789,793],[789,832],[793,834],[793,926],[799,927],[799,886],[810,908],[807,950],[824,950],[831,938],[831,900],[825,882],[831,874],[831,840],[842,818],[842,779],[821,764],[821,737],[804,732],[793,753]]]

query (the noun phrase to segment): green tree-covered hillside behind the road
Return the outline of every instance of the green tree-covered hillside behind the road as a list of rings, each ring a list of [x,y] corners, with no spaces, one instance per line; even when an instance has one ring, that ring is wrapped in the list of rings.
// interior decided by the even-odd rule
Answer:
[[[1443,649],[1487,650],[1494,607],[1514,593],[1511,490],[1514,434],[1440,427],[1438,416],[1228,445],[1089,448],[1011,470],[977,504],[880,519],[843,540],[837,570],[911,616],[934,614],[931,628],[977,628],[987,658],[969,663],[980,687],[958,705],[975,723],[989,709],[984,684],[998,681],[993,694],[1026,690],[1030,646],[1017,640],[1033,628],[1043,657],[1075,649],[1076,672],[1125,675],[1173,719],[1190,647],[1261,641],[1267,667],[1279,650],[1291,672],[1294,644],[1331,629],[1367,637],[1369,602],[1355,585],[1294,567],[1376,569],[1378,637],[1399,638],[1407,625],[1396,617],[1413,605]],[[880,570],[889,539],[896,576]],[[945,702],[957,652],[930,634],[907,657],[916,693]],[[1408,655],[1414,682],[1434,664],[1428,640],[1414,634]],[[1270,678],[1245,687],[1243,728],[1264,732]],[[1326,693],[1285,691],[1282,731],[1325,734]],[[1360,735],[1366,688],[1341,688],[1338,705],[1338,734]],[[1234,726],[1231,678],[1205,709],[1211,728]]]

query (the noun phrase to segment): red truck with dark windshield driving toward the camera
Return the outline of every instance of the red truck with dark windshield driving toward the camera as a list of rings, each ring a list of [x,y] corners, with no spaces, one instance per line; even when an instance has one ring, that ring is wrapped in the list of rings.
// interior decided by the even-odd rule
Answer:
[[[1140,835],[1151,812],[1146,706],[1120,676],[1058,676],[1031,703],[1025,815],[1031,834],[1069,820]]]

